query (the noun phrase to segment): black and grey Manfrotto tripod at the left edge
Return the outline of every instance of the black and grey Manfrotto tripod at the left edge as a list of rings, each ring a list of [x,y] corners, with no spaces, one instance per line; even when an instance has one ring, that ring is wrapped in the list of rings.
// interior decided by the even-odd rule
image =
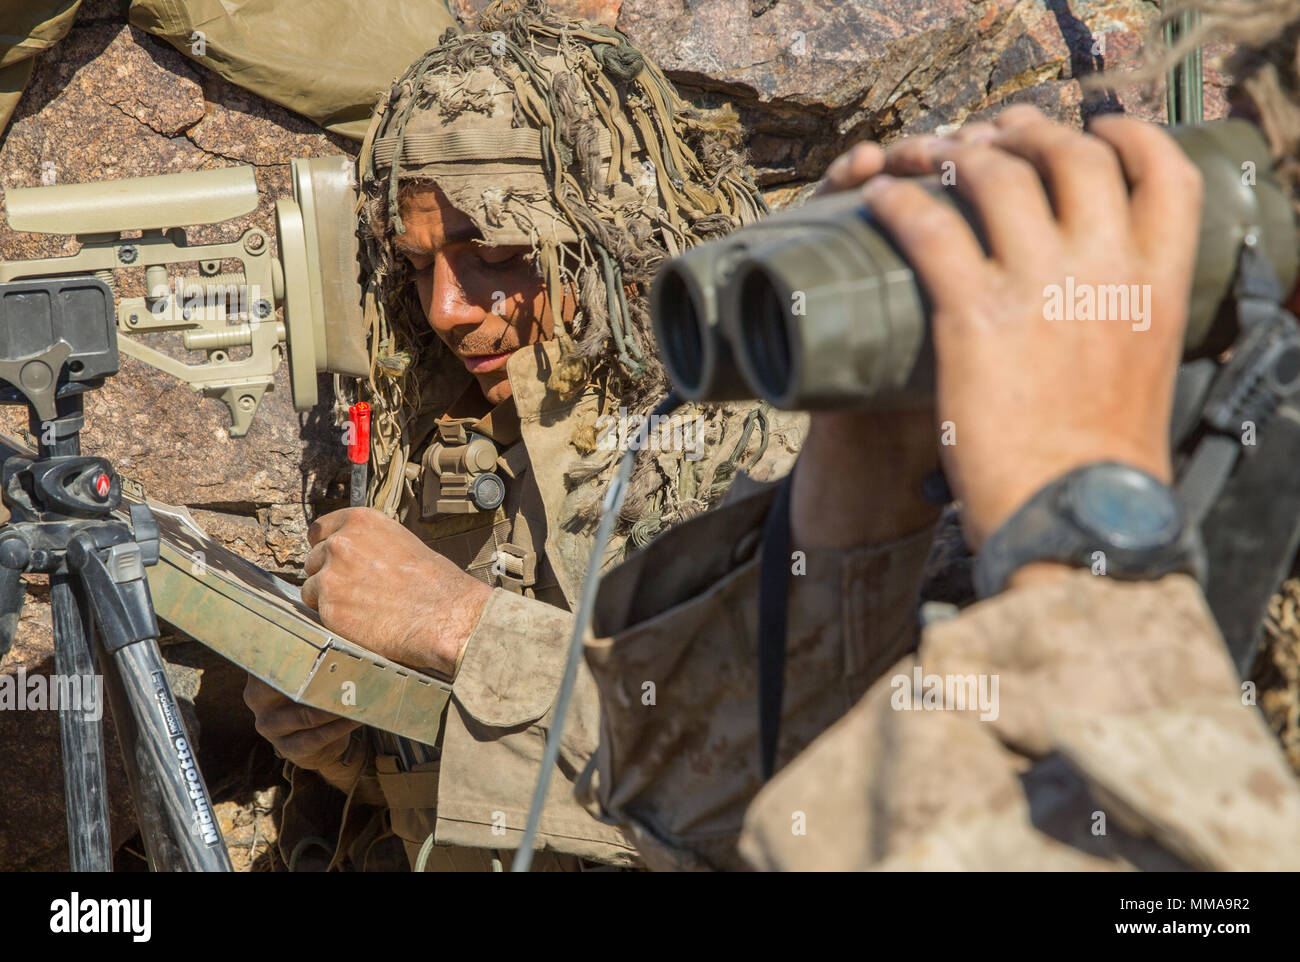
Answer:
[[[16,287],[0,285],[0,295]],[[38,354],[0,360],[6,382],[0,403],[26,403],[31,433],[40,438],[36,458],[17,455],[0,467],[0,497],[10,512],[0,526],[0,655],[18,625],[22,575],[48,573],[56,671],[61,680],[92,677],[96,667],[103,673],[151,868],[231,871],[159,654],[146,580],[159,558],[157,524],[146,504],[130,506],[129,523],[116,517],[122,495],[113,465],[81,454],[83,393],[104,377],[75,381],[65,370],[75,328]],[[116,373],[116,354],[114,341],[108,373]],[[70,369],[88,367],[74,360]],[[38,407],[47,413],[53,407],[55,417],[43,419]],[[103,711],[90,718],[79,708],[58,708],[72,868],[112,871]]]

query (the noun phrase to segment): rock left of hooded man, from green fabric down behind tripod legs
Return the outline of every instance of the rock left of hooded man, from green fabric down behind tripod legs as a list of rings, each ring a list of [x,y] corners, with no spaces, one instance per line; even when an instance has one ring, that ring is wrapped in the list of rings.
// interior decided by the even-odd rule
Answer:
[[[273,205],[291,190],[290,159],[344,153],[354,146],[194,66],[168,44],[129,27],[117,6],[83,5],[68,38],[38,61],[0,143],[3,186],[251,164],[257,209],[237,222],[192,229],[190,239],[226,242],[250,225],[274,238]],[[0,228],[5,260],[72,252],[66,237]],[[125,283],[133,281],[142,283]],[[174,343],[153,346],[196,361]],[[308,519],[343,503],[332,495],[342,495],[348,469],[341,434],[328,416],[329,380],[320,387],[324,403],[296,413],[281,365],[276,390],[264,396],[248,434],[231,438],[229,413],[218,400],[202,399],[176,378],[124,356],[121,373],[86,398],[82,450],[112,459],[150,497],[194,507],[212,537],[250,560],[295,576]],[[0,424],[21,436],[26,411],[3,408]],[[55,672],[48,594],[40,590],[29,594],[17,644],[0,672]],[[179,640],[165,647],[165,656],[183,710],[191,723],[200,723],[200,760],[216,792],[224,772],[243,768],[250,753],[269,755],[240,698],[243,672],[196,642]],[[134,818],[108,716],[105,740],[113,837],[122,841],[134,832]],[[58,759],[56,712],[0,711],[0,870],[66,867]]]

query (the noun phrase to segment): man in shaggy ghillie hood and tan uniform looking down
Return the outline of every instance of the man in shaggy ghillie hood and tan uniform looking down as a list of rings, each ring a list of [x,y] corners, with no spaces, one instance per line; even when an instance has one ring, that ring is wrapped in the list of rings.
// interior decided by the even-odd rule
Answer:
[[[477,32],[448,31],[378,104],[359,157],[369,503],[490,590],[442,663],[454,682],[438,745],[358,732],[328,777],[286,766],[281,845],[295,867],[402,867],[395,854],[426,870],[508,866],[599,503],[667,390],[647,285],[664,256],[767,209],[740,139],[729,108],[684,104],[620,34],[540,3],[494,4]],[[651,425],[606,564],[742,474],[780,476],[803,425],[754,404]],[[374,604],[387,614],[382,585]],[[324,594],[320,611],[330,625]],[[573,800],[597,716],[584,670],[538,868],[636,863],[621,831]]]

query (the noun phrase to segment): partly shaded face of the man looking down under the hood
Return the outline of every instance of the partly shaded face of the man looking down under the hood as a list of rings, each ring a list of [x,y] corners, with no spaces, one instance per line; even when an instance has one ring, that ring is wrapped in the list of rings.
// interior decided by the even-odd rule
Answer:
[[[482,234],[436,186],[412,191],[400,209],[406,233],[395,244],[411,264],[429,326],[484,396],[499,404],[511,396],[510,355],[555,337],[546,283],[528,259],[532,248],[473,243]],[[566,290],[560,316],[572,320],[575,308]]]

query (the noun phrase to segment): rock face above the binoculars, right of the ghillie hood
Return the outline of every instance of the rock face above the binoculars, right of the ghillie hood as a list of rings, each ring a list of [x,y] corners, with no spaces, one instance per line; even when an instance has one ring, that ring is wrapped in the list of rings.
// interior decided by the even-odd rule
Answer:
[[[489,0],[456,0],[473,21]],[[598,14],[682,95],[731,101],[758,183],[781,203],[849,146],[942,131],[1011,103],[1075,125],[1123,107],[1162,120],[1164,91],[1084,96],[1079,78],[1135,65],[1149,0],[556,0]],[[1213,53],[1213,51],[1210,51]],[[1223,112],[1206,70],[1206,116]]]

